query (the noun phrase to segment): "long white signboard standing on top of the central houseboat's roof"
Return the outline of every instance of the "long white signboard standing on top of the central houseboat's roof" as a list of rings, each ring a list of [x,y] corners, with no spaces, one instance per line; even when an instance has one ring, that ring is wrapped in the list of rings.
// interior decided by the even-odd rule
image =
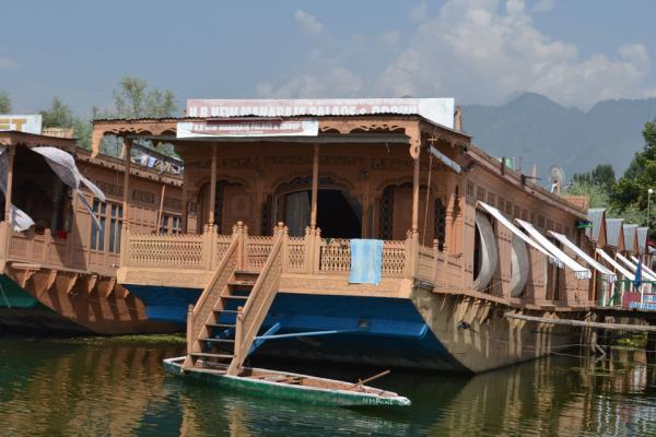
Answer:
[[[453,98],[188,99],[187,117],[419,115],[454,128]]]

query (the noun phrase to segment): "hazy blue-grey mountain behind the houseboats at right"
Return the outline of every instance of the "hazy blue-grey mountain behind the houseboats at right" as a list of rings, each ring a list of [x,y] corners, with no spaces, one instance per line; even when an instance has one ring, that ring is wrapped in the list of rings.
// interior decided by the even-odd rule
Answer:
[[[475,144],[493,156],[522,157],[525,173],[537,164],[542,178],[552,165],[570,177],[611,164],[621,176],[644,146],[645,122],[654,118],[656,98],[604,101],[584,111],[525,93],[503,106],[462,107],[462,127]]]

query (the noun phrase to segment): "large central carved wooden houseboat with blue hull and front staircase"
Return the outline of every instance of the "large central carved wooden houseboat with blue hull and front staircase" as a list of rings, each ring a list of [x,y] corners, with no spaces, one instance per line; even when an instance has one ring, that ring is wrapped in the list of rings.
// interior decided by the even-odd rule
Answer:
[[[508,316],[589,317],[593,271],[617,277],[587,211],[476,146],[456,109],[191,99],[183,118],[95,121],[92,156],[115,135],[185,162],[181,232],[124,222],[118,283],[186,326],[186,367],[232,374],[253,352],[478,373],[579,343]]]

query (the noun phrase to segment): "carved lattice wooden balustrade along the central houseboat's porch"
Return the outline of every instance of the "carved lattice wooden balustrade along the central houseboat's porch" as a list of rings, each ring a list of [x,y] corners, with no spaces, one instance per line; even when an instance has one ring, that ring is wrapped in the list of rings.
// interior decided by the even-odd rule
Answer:
[[[273,236],[250,236],[243,224],[233,235],[220,235],[215,228],[203,234],[136,235],[127,233],[125,267],[157,267],[215,270],[235,234],[238,238],[239,269],[259,272],[274,245]],[[15,250],[24,250],[16,246]],[[304,237],[288,237],[283,271],[305,274],[348,274],[351,270],[351,245],[345,238],[321,238],[318,229]],[[384,277],[418,277],[431,283],[454,285],[460,275],[460,262],[434,247],[421,246],[415,238],[386,240],[383,245]]]

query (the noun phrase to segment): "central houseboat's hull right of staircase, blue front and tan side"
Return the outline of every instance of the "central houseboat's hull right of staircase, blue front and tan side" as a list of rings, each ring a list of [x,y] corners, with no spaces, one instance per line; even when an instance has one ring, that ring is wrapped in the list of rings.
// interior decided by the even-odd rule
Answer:
[[[148,298],[144,302],[148,306]],[[480,373],[579,343],[578,331],[515,323],[503,316],[507,310],[506,305],[484,299],[423,290],[413,291],[409,298],[279,292],[260,332],[300,335],[267,340],[254,357]],[[179,309],[163,311],[176,312]],[[180,329],[185,326],[181,318],[176,322]]]

